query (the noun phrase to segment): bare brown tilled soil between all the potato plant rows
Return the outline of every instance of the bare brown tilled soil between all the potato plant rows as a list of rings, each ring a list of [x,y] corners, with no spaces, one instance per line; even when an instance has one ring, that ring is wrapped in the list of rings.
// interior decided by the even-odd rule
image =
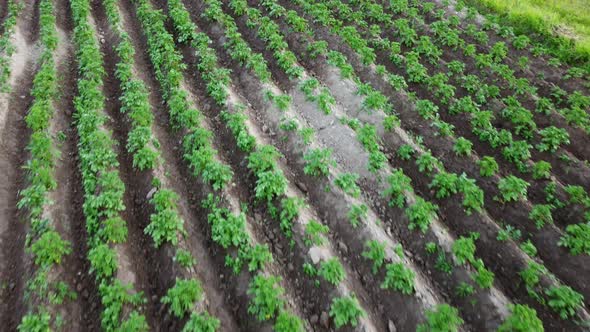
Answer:
[[[11,59],[12,91],[0,95],[0,324],[7,331],[15,331],[29,309],[30,301],[26,297],[25,288],[36,268],[25,246],[28,232],[26,212],[17,209],[19,191],[27,186],[23,165],[29,158],[26,144],[30,131],[24,118],[33,101],[30,90],[38,70],[37,60],[40,53],[37,45],[40,0],[24,2],[26,6],[19,17],[12,39],[17,49]],[[163,14],[168,14],[166,1],[154,0],[154,3]],[[195,50],[187,45],[178,44],[177,48],[187,64],[183,84],[189,93],[190,102],[201,110],[203,126],[213,133],[213,145],[219,152],[218,158],[228,164],[234,172],[231,186],[220,194],[222,204],[236,210],[242,207],[240,204],[247,207],[249,234],[255,243],[267,244],[275,259],[264,272],[282,277],[281,285],[286,290],[287,306],[304,319],[306,330],[334,331],[334,322],[328,315],[332,299],[348,292],[354,292],[363,309],[367,311],[367,317],[360,322],[362,328],[367,331],[414,330],[424,321],[426,309],[445,302],[459,308],[462,318],[466,321],[463,325],[465,331],[495,330],[506,318],[508,307],[512,303],[527,304],[534,308],[548,331],[583,329],[573,320],[559,319],[550,308],[531,299],[519,276],[519,272],[531,260],[543,263],[559,282],[584,295],[585,306],[580,309],[579,314],[580,317],[586,317],[584,315],[587,315],[590,309],[590,285],[586,282],[585,276],[590,274],[590,257],[574,256],[566,248],[557,246],[567,226],[582,220],[586,213],[583,206],[556,209],[553,213],[555,224],[537,229],[529,220],[528,213],[533,204],[545,202],[544,188],[548,181],[534,180],[530,174],[521,174],[514,165],[503,159],[501,151],[479,142],[465,125],[469,121],[468,116],[450,115],[448,107],[440,105],[425,85],[410,84],[407,91],[393,91],[383,77],[375,72],[374,66],[363,65],[358,55],[341,38],[314,22],[293,2],[279,1],[285,8],[293,9],[308,19],[315,32],[315,39],[291,31],[284,18],[272,20],[279,25],[289,49],[298,57],[299,65],[304,69],[304,76],[318,79],[335,97],[335,110],[330,115],[324,115],[314,102],[306,100],[298,87],[300,80],[290,79],[286,75],[272,51],[268,50],[266,43],[257,36],[256,29],[247,26],[245,17],[233,14],[228,7],[229,1],[223,1],[223,10],[235,19],[239,32],[252,50],[262,54],[267,61],[272,72],[270,83],[261,82],[248,68],[231,58],[224,45],[226,38],[221,27],[203,17],[205,3],[202,0],[184,0],[184,3],[193,22],[212,39],[210,47],[216,52],[219,65],[231,69],[232,83],[229,90],[233,101],[247,105],[244,113],[248,116],[249,133],[256,137],[258,144],[273,145],[284,154],[279,167],[289,181],[288,194],[290,197],[302,198],[308,204],[302,209],[302,216],[293,228],[295,235],[291,242],[281,231],[278,222],[273,219],[267,205],[255,198],[257,179],[247,167],[248,155],[238,148],[236,139],[222,121],[222,107],[207,95],[206,84],[197,69],[198,58],[195,56]],[[268,15],[267,10],[260,6],[260,1],[248,0],[248,3]],[[6,18],[6,4],[7,1],[0,3],[0,25]],[[78,136],[73,116],[74,97],[77,94],[77,63],[72,45],[72,14],[68,1],[56,0],[54,4],[60,35],[59,48],[55,56],[60,89],[59,98],[55,102],[56,112],[51,130],[56,137],[61,157],[57,162],[55,174],[58,188],[51,193],[54,204],[48,212],[56,230],[72,244],[73,253],[52,272],[52,277],[65,281],[77,293],[77,299],[66,301],[55,310],[64,318],[62,330],[100,331],[103,308],[87,259],[88,236],[82,211],[84,197],[79,170]],[[153,331],[180,331],[187,321],[186,317],[174,317],[168,306],[161,303],[161,298],[178,277],[194,277],[200,280],[205,301],[197,306],[198,310],[204,309],[217,317],[221,322],[220,330],[271,331],[274,321],[259,322],[248,312],[251,298],[247,294],[247,289],[254,275],[248,271],[234,274],[225,264],[226,255],[233,252],[224,250],[211,239],[211,228],[207,222],[208,211],[202,207],[201,202],[212,192],[212,188],[199,177],[195,177],[184,160],[182,140],[186,132],[173,129],[169,125],[168,107],[155,77],[144,31],[136,17],[135,5],[132,0],[123,0],[118,3],[123,27],[136,48],[135,74],[145,82],[150,92],[149,102],[155,115],[152,131],[158,141],[155,145],[159,146],[162,156],[161,164],[155,170],[139,172],[133,168],[133,156],[126,149],[131,123],[128,116],[120,112],[121,82],[115,76],[116,64],[119,61],[115,47],[118,45],[119,36],[111,30],[102,2],[92,0],[91,4],[91,22],[96,30],[106,72],[103,87],[106,97],[104,112],[109,120],[105,129],[112,132],[117,143],[115,149],[120,163],[119,175],[125,184],[126,210],[122,217],[127,221],[129,233],[128,242],[118,248],[121,254],[118,277],[132,281],[135,289],[144,294],[147,302],[141,309]],[[448,9],[448,14],[451,13],[451,9]],[[434,16],[428,15],[426,24],[417,29],[419,34],[433,38],[428,30],[428,24],[433,21]],[[354,22],[349,23],[354,25]],[[166,24],[168,31],[174,34],[169,19],[166,20]],[[465,33],[467,24],[466,20],[461,22],[461,36],[466,41],[475,43]],[[366,33],[366,29],[361,28],[359,31]],[[490,45],[503,40],[495,33],[487,34],[490,37]],[[386,31],[384,36],[391,40],[395,39],[392,31]],[[324,56],[313,59],[307,55],[307,45],[320,39],[328,42],[329,49],[344,53],[363,82],[371,83],[375,89],[389,97],[401,119],[400,128],[394,132],[386,132],[383,129],[385,115],[383,112],[366,113],[361,110],[362,98],[356,93],[356,86],[352,81],[342,79],[337,70],[326,62]],[[525,77],[539,88],[536,95],[521,97],[520,100],[525,107],[534,107],[535,99],[550,94],[551,86],[554,84],[569,92],[580,90],[588,93],[588,89],[584,87],[587,80],[561,79],[568,69],[567,66],[553,68],[547,64],[546,57],[534,58],[528,50],[518,51],[509,42],[506,44],[509,47],[509,55],[505,63],[515,69],[517,77]],[[477,47],[480,52],[488,52],[490,49],[489,45],[478,44]],[[443,47],[442,50],[443,56],[439,63],[432,65],[424,62],[430,74],[440,72],[450,61],[459,60],[466,64],[466,73],[478,75],[482,82],[492,83],[498,78],[497,75],[488,75],[477,69],[473,59],[449,48]],[[402,51],[407,52],[411,49],[403,48]],[[386,53],[377,52],[377,55],[376,64],[384,65],[390,73],[407,77],[404,68],[396,67],[388,61]],[[516,59],[520,56],[530,58],[529,70],[517,69]],[[544,73],[544,77],[539,77],[539,72]],[[468,92],[459,86],[459,82],[452,80],[450,83],[457,86],[457,98],[468,95]],[[513,93],[506,82],[497,84],[502,88],[502,97]],[[292,98],[286,113],[281,113],[264,98],[263,91],[269,87]],[[419,98],[437,101],[441,118],[455,125],[457,136],[462,135],[474,143],[473,154],[465,158],[456,157],[453,152],[453,140],[437,136],[430,123],[419,117],[415,111],[415,104],[408,98],[409,92],[414,92]],[[233,101],[228,103],[229,111],[234,111]],[[560,107],[566,106],[561,100],[553,101]],[[496,105],[502,106],[498,100]],[[496,109],[496,112],[498,111],[499,108]],[[304,143],[296,132],[280,129],[279,124],[285,114],[315,130],[310,144]],[[377,173],[367,170],[369,155],[358,141],[355,131],[339,121],[343,116],[357,118],[377,128],[382,152],[389,159],[385,169]],[[564,192],[564,186],[567,184],[590,186],[590,167],[583,164],[584,159],[590,159],[590,145],[582,143],[587,140],[588,135],[579,128],[566,124],[557,114],[550,117],[535,114],[534,120],[539,128],[556,125],[566,128],[570,133],[572,144],[561,148],[557,154],[533,151],[532,156],[534,161],[547,160],[553,165],[552,172],[558,183],[558,196],[563,200],[567,199]],[[511,123],[501,120],[499,116],[493,124],[498,128],[513,129]],[[485,210],[482,213],[467,215],[463,211],[462,197],[459,195],[437,199],[435,192],[430,188],[432,175],[420,173],[414,160],[403,161],[396,157],[399,146],[414,143],[415,136],[423,138],[423,143],[444,163],[447,171],[457,174],[465,172],[477,181],[485,192]],[[532,142],[538,143],[539,140],[540,137],[536,135]],[[330,170],[328,176],[318,178],[305,174],[306,161],[303,155],[310,147],[332,149],[337,165]],[[569,155],[576,163],[567,165],[557,157],[561,153]],[[477,162],[484,155],[494,156],[500,164],[497,176],[484,178],[479,175]],[[383,196],[387,186],[384,179],[395,168],[402,169],[412,179],[416,194],[436,203],[440,208],[438,219],[424,234],[410,231],[405,211],[390,206],[388,198]],[[334,184],[334,178],[344,172],[357,173],[360,176],[360,197],[352,198]],[[518,175],[531,183],[527,202],[501,204],[493,199],[499,194],[499,180],[509,174]],[[180,240],[180,246],[189,250],[197,259],[197,265],[190,271],[179,268],[178,263],[174,261],[175,248],[170,245],[155,248],[152,238],[144,233],[153,212],[149,200],[154,189],[154,178],[161,180],[166,188],[179,195],[178,212],[185,221],[184,226],[187,230],[187,235]],[[408,199],[415,199],[415,195],[408,194]],[[364,224],[353,228],[348,221],[348,211],[352,204],[359,203],[368,206],[368,217]],[[309,219],[317,219],[330,228],[328,241],[311,250],[303,243],[305,224]],[[518,241],[498,242],[496,236],[504,224],[522,230],[521,241],[530,239],[539,251],[538,257],[527,256],[519,248]],[[476,242],[476,255],[495,273],[495,283],[491,290],[476,287],[473,295],[463,298],[456,294],[456,289],[461,282],[473,284],[472,268],[455,266],[450,274],[442,272],[437,268],[435,255],[429,255],[425,251],[425,244],[434,242],[444,249],[447,257],[451,257],[452,241],[459,236],[467,236],[470,232],[480,233],[481,237]],[[371,262],[362,255],[365,243],[369,240],[380,240],[387,245],[386,262],[403,262],[415,272],[415,294],[403,295],[381,288],[385,269],[373,274]],[[398,257],[393,251],[397,244],[403,245],[403,257]],[[324,257],[336,257],[343,264],[347,276],[339,287],[329,285],[321,278],[310,278],[303,272],[304,263],[315,263],[316,259]],[[321,281],[316,284],[316,279]],[[541,280],[544,287],[554,285],[555,282],[548,277]],[[346,327],[342,330],[355,329]]]

